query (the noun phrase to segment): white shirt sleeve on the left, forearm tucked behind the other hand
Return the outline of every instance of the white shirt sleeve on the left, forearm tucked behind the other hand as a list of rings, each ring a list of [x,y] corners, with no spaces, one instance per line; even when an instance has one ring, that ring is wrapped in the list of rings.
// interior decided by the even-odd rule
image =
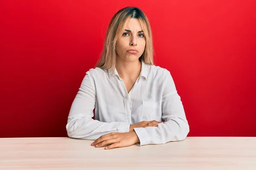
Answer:
[[[93,69],[90,69],[86,72],[71,105],[66,125],[67,135],[70,138],[96,140],[111,132],[129,132],[129,123],[108,123],[92,119],[96,102],[95,84],[91,78],[92,71]]]

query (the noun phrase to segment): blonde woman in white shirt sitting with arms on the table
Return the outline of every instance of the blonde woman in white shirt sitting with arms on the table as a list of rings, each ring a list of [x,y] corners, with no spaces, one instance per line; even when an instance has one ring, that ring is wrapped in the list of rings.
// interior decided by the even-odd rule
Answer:
[[[154,65],[152,44],[140,8],[126,7],[113,16],[102,56],[86,72],[70,108],[70,138],[109,145],[105,149],[186,138],[189,125],[180,96],[170,72]]]

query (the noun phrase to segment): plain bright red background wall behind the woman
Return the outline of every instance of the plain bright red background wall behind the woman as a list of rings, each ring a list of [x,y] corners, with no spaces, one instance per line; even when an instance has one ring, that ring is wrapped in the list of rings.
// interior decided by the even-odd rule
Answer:
[[[255,0],[1,0],[0,137],[67,136],[67,116],[113,14],[137,6],[189,136],[256,136]]]

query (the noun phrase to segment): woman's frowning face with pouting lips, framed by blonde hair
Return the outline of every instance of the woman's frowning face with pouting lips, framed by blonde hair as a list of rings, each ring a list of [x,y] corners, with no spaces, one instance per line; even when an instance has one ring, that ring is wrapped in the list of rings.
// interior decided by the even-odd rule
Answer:
[[[124,28],[122,36],[116,41],[117,59],[137,61],[143,54],[146,45],[140,21],[135,18],[128,19]],[[129,51],[130,49],[137,50],[137,52]]]

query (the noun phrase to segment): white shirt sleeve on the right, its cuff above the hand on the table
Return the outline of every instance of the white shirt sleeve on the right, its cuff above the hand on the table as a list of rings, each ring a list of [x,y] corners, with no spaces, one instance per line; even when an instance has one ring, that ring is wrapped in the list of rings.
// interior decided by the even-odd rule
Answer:
[[[171,141],[186,139],[189,133],[189,124],[186,119],[183,104],[177,94],[175,83],[169,71],[166,70],[162,96],[162,119],[157,127],[134,128],[142,146],[146,144],[164,144]]]

